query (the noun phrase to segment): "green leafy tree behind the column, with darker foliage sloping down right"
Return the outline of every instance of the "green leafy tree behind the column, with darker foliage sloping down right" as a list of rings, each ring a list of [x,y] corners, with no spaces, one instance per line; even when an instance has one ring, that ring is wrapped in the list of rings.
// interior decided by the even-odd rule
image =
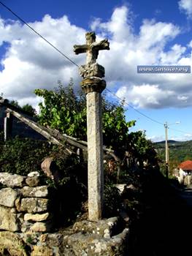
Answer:
[[[85,94],[82,91],[74,94],[73,86],[71,80],[66,87],[58,82],[58,88],[51,91],[35,90],[35,94],[44,99],[39,103],[39,122],[64,134],[87,140]],[[120,159],[124,159],[125,152],[129,151],[141,166],[144,161],[153,165],[156,154],[153,145],[142,132],[129,134],[129,128],[135,125],[135,121],[126,121],[123,102],[112,103],[105,97],[102,100],[104,146],[112,148]]]

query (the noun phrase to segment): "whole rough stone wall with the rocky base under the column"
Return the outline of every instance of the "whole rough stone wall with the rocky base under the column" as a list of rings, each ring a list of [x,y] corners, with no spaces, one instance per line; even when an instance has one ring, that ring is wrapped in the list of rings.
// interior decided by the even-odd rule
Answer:
[[[119,217],[82,220],[58,233],[54,194],[41,186],[39,173],[0,173],[0,185],[0,256],[127,255],[129,230]]]

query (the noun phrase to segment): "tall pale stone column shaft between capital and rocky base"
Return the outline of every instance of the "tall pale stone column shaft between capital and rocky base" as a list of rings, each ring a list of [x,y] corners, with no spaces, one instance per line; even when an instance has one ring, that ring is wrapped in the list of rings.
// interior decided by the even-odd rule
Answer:
[[[91,91],[86,97],[88,129],[88,217],[90,220],[96,221],[101,219],[104,191],[101,93]]]

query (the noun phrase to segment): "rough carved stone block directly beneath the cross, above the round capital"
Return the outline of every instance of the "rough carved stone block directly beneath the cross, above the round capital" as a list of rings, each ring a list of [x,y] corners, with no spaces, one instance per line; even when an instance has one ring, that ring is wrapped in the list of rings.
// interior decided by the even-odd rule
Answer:
[[[103,78],[104,77],[104,67],[102,67],[97,63],[82,65],[79,68],[79,72],[82,78],[88,78],[88,77]]]

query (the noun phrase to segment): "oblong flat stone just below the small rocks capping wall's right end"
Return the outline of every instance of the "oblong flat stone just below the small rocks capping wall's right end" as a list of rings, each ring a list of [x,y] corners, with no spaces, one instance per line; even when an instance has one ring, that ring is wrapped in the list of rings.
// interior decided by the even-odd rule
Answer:
[[[48,187],[23,187],[23,189],[20,189],[20,192],[22,193],[23,197],[47,197]]]

